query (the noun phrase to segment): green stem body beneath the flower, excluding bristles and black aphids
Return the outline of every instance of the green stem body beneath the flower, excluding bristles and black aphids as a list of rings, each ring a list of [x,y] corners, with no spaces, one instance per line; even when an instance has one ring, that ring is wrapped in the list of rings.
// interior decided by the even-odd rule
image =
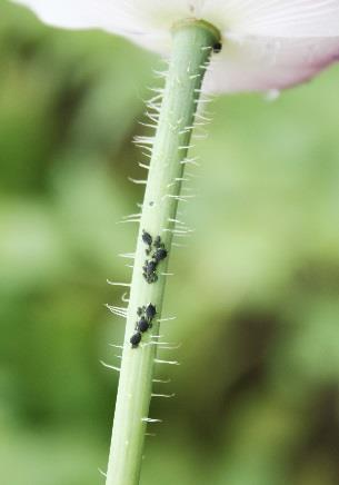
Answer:
[[[173,220],[200,88],[212,47],[219,41],[217,29],[205,21],[185,21],[173,29],[172,57],[152,147],[130,288],[107,485],[139,483],[147,427],[144,418],[149,413],[157,353],[152,336],[159,335],[158,320],[167,279],[163,274],[169,259],[167,257],[159,263],[157,281],[148,283],[144,279],[142,267],[150,256],[146,254],[142,230],[149,232],[153,240],[160,236],[170,254]],[[132,348],[130,338],[136,334],[138,308],[149,303],[157,308],[152,328],[142,334],[140,345]]]

